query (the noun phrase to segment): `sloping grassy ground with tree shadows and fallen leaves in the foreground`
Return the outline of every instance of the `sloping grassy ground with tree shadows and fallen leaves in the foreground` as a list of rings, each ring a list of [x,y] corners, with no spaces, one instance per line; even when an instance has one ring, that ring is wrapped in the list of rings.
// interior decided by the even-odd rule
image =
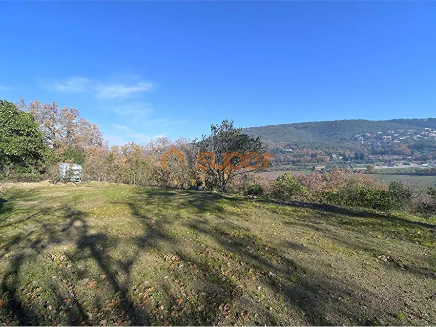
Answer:
[[[211,192],[4,186],[0,325],[436,325],[435,228]]]

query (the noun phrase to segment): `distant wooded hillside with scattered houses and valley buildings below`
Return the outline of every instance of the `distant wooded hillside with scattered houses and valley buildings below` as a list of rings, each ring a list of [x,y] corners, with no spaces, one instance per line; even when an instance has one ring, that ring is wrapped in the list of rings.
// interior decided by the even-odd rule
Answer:
[[[342,120],[244,128],[274,153],[271,171],[436,167],[436,119]],[[317,167],[318,166],[318,167]],[[325,166],[320,168],[319,166]]]

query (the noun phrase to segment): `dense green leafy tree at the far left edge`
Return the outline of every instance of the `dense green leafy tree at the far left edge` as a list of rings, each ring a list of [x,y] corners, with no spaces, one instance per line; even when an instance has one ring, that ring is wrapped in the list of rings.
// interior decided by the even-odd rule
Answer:
[[[47,153],[44,134],[31,114],[0,100],[0,165],[35,166]]]

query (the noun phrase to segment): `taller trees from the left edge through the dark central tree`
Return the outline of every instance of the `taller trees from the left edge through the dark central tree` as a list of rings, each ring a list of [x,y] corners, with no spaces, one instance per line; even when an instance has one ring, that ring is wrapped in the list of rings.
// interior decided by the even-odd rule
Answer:
[[[212,125],[199,140],[165,137],[147,144],[129,142],[109,146],[96,124],[80,117],[77,109],[55,102],[0,102],[0,168],[4,179],[56,180],[60,162],[83,165],[83,180],[150,186],[205,185],[225,192],[241,175],[261,170],[265,150],[259,137],[242,133],[233,122]],[[161,159],[171,148],[182,158]],[[199,158],[199,154],[202,158]],[[233,154],[230,157],[226,154]],[[255,156],[246,157],[248,153]],[[201,160],[200,160],[201,159]],[[200,165],[200,166],[199,166]]]

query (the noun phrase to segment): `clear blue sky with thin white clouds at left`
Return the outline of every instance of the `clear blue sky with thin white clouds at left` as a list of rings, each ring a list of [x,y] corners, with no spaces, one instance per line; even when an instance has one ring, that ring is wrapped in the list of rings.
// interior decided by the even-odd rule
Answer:
[[[436,2],[0,2],[0,99],[57,102],[111,144],[434,117]]]

